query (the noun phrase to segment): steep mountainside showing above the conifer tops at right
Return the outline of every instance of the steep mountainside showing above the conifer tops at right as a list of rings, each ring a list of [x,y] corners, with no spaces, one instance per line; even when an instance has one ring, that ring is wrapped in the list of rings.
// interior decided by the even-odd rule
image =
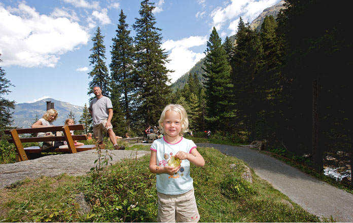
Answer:
[[[277,14],[281,9],[284,9],[285,7],[283,4],[285,1],[280,1],[274,6],[271,6],[269,8],[266,8],[254,21],[250,24],[250,27],[254,29],[260,29],[262,22],[264,21],[266,16],[272,15],[274,18],[277,18]],[[235,43],[235,35],[229,36],[229,39]],[[202,69],[203,66],[203,61],[205,58],[202,58],[200,61],[198,61],[195,66],[193,66],[187,73],[185,73],[182,77],[180,77],[177,81],[175,81],[173,84],[171,84],[171,88],[173,91],[184,88],[184,85],[186,84],[188,80],[188,75],[189,73],[196,73],[199,81],[203,83],[204,78],[202,76],[202,73],[204,72]]]

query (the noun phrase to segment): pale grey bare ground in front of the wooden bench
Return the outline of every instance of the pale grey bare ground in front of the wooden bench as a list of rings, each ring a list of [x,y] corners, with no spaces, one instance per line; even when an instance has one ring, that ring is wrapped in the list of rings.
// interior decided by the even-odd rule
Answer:
[[[107,150],[102,150],[103,155],[105,151]],[[150,154],[149,151],[133,150],[113,150],[112,152],[113,161],[110,161],[110,163],[113,164],[125,158],[135,159]],[[50,155],[18,163],[0,164],[0,188],[26,177],[34,179],[42,175],[57,176],[62,173],[74,176],[84,175],[92,167],[95,167],[94,161],[96,159],[96,150],[88,150],[75,154]]]

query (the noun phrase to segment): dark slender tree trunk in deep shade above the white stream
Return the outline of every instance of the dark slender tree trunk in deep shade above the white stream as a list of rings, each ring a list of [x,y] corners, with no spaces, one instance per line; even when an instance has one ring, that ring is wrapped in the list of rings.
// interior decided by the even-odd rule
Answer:
[[[324,168],[323,150],[319,146],[319,84],[318,79],[312,81],[312,161],[315,170]]]

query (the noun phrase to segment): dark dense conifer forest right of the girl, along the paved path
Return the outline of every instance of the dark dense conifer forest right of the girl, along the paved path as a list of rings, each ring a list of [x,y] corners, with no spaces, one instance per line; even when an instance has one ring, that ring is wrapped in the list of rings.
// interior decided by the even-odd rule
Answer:
[[[311,156],[319,171],[326,152],[346,154],[352,166],[348,9],[328,1],[288,0],[285,7],[259,31],[240,19],[235,44],[211,33],[202,61],[206,106],[199,100],[204,127]],[[190,80],[176,94],[187,98]]]

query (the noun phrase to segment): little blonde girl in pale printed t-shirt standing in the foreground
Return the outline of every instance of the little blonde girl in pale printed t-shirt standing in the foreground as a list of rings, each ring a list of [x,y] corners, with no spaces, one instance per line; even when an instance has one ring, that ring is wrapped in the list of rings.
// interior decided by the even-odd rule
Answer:
[[[150,171],[156,173],[158,194],[158,222],[197,222],[200,215],[194,196],[193,179],[190,177],[190,162],[205,165],[196,144],[183,138],[187,132],[188,115],[182,105],[167,105],[158,121],[163,138],[151,145]],[[182,160],[178,167],[168,166],[174,156]]]

